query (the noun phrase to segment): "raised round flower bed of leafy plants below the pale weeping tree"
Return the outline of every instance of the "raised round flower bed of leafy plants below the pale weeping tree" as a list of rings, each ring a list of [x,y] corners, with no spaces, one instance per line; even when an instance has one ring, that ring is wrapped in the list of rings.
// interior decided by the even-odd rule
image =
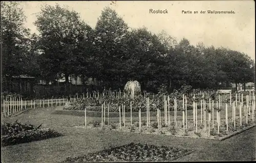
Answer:
[[[125,99],[125,98],[85,98],[85,99],[76,99],[75,101],[67,102],[64,106],[64,110],[84,110],[87,108],[87,111],[101,112],[101,105],[105,102],[106,109],[109,105],[110,112],[119,112],[119,106],[122,107],[122,104],[125,105],[125,112],[130,112],[131,102],[133,112],[138,112],[141,108],[141,112],[146,112],[146,98],[135,98],[135,99]],[[178,110],[182,110],[182,100],[177,101]],[[170,111],[174,110],[173,100],[170,100],[169,103]],[[150,99],[150,110],[153,112],[157,111],[157,108],[160,108],[161,111],[164,110],[163,98],[154,98]],[[198,106],[198,109],[200,106]],[[187,104],[187,110],[193,110],[193,105],[191,103]]]

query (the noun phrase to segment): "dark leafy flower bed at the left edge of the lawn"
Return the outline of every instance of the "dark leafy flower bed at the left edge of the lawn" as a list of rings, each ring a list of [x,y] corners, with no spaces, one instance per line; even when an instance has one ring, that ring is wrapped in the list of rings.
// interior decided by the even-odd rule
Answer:
[[[13,124],[2,124],[2,146],[28,143],[53,137],[59,137],[61,134],[50,128],[34,127],[29,124],[21,124],[17,121]]]

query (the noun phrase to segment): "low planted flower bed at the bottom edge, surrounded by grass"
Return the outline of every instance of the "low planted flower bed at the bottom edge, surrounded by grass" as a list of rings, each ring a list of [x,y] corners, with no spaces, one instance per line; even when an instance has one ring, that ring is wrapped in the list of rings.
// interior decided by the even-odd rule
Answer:
[[[189,153],[191,151],[186,149],[131,143],[84,156],[68,157],[64,162],[172,161]]]

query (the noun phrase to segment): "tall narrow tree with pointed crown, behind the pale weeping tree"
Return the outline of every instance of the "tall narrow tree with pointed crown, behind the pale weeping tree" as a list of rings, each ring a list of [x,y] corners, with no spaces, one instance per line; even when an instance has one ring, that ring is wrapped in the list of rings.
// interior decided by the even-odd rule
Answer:
[[[118,82],[125,57],[125,44],[128,26],[116,11],[106,7],[101,12],[95,27],[96,58],[99,73],[96,78],[104,81],[104,85],[114,87]]]

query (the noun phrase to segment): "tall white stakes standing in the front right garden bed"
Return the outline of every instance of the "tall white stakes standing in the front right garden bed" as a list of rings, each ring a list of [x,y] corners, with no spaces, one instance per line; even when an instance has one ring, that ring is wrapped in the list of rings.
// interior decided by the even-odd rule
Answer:
[[[195,97],[195,96],[194,96]],[[237,97],[237,95],[236,95]],[[248,124],[248,115],[250,116],[250,106],[252,110],[252,122],[254,122],[254,112],[255,112],[255,97],[254,93],[252,96],[252,101],[249,95],[246,95],[246,104],[243,104],[243,95],[241,96],[242,99],[236,98],[235,101],[230,100],[230,106],[232,107],[232,123],[234,125],[234,128],[236,128],[236,108],[239,107],[239,116],[240,116],[240,126],[242,126],[242,110],[244,107],[244,116],[246,117],[246,124]],[[230,98],[231,99],[231,98]],[[164,96],[164,123],[165,125],[170,126],[170,108],[169,108],[169,96]],[[215,106],[215,100],[209,99],[209,107],[206,108],[206,100],[201,100],[201,124],[204,125],[204,130],[206,130],[206,112],[208,112],[208,136],[210,136],[210,129],[211,129],[211,120],[212,120],[212,128],[215,127],[214,124],[214,114],[211,115],[211,113],[214,113],[214,107]],[[220,125],[221,125],[221,106],[222,106],[222,98],[219,96],[219,100],[216,100],[216,121],[217,121],[217,128],[218,128],[218,134],[220,133]],[[133,124],[132,120],[132,101],[130,103],[130,110],[131,110],[131,125]],[[198,103],[193,102],[193,122],[194,127],[196,127],[196,132],[198,132]],[[103,128],[103,123],[105,122],[105,102],[101,105],[101,128]],[[177,126],[177,98],[174,99],[174,123],[175,128],[178,129]],[[87,111],[86,108],[84,109],[84,121],[85,126],[87,126]],[[121,114],[122,113],[122,114]],[[122,116],[121,116],[122,115]],[[121,121],[122,117],[122,121]],[[228,131],[228,103],[225,103],[225,124],[226,124],[226,130]],[[119,128],[121,129],[121,122],[123,123],[123,126],[125,127],[125,105],[122,104],[122,111],[121,106],[119,106]],[[158,123],[158,129],[161,129],[161,111],[158,108],[157,109],[157,123]],[[187,129],[187,97],[183,95],[183,109],[182,109],[182,126],[183,126],[183,132],[185,133],[185,129]],[[108,125],[109,125],[109,104],[108,104]],[[146,126],[148,127],[150,125],[150,98],[146,98]],[[139,109],[139,130],[141,131],[141,108]]]

